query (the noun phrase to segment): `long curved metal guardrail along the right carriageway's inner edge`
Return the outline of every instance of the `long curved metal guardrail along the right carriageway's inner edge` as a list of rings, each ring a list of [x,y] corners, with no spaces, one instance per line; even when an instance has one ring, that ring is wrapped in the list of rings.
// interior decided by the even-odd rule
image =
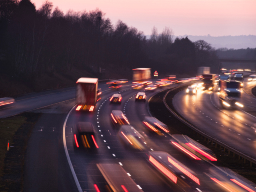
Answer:
[[[172,90],[169,90],[168,92],[166,92],[166,94],[164,95],[164,105],[166,106],[167,110],[172,113],[176,118],[178,118],[178,120],[180,120],[181,122],[183,122],[184,124],[186,124],[188,127],[192,128],[194,131],[198,132],[199,134],[201,134],[202,136],[204,136],[205,138],[208,138],[209,140],[215,142],[216,144],[222,146],[224,149],[227,149],[231,152],[233,152],[234,154],[237,154],[239,159],[240,157],[244,158],[244,162],[245,160],[248,160],[250,162],[250,165],[252,166],[252,163],[256,164],[256,159],[251,157],[251,156],[248,156],[244,153],[242,153],[241,151],[233,148],[232,146],[229,146],[228,144],[218,140],[217,138],[214,138],[210,135],[208,135],[206,132],[200,130],[199,128],[197,128],[196,126],[190,124],[185,118],[182,118],[180,117],[178,114],[176,114],[169,106],[168,104],[166,103],[166,96],[173,90],[176,90],[178,88],[181,88],[182,86],[178,86]]]

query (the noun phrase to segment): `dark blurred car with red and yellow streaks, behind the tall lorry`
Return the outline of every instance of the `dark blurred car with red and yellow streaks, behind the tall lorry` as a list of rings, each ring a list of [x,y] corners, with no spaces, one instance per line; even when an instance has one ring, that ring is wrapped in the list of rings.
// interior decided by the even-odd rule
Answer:
[[[95,129],[90,122],[78,122],[74,127],[74,146],[76,148],[99,148],[95,139]]]

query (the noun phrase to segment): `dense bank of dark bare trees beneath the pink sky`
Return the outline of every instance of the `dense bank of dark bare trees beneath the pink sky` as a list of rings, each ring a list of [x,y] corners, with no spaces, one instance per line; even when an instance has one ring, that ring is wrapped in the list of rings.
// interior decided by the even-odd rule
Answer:
[[[45,74],[68,73],[74,67],[99,75],[102,70],[131,74],[151,67],[162,74],[196,73],[197,66],[216,66],[216,52],[203,40],[173,40],[173,31],[150,40],[100,10],[64,14],[46,1],[38,10],[30,0],[0,1],[0,65],[2,74],[31,82]]]

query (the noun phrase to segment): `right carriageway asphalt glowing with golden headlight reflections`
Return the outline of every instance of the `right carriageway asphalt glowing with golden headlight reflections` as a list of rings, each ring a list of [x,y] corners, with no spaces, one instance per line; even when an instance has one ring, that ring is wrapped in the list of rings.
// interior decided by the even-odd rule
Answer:
[[[243,93],[243,100],[245,97]],[[256,158],[255,118],[241,110],[223,109],[218,93],[206,90],[192,96],[183,90],[174,96],[173,104],[188,122],[203,132]]]

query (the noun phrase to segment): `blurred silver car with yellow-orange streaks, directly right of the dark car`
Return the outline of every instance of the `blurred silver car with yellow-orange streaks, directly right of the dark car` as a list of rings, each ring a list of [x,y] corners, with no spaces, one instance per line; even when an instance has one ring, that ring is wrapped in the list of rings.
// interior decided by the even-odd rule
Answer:
[[[146,142],[144,137],[131,125],[122,125],[118,136],[130,148],[141,151],[145,149]]]

